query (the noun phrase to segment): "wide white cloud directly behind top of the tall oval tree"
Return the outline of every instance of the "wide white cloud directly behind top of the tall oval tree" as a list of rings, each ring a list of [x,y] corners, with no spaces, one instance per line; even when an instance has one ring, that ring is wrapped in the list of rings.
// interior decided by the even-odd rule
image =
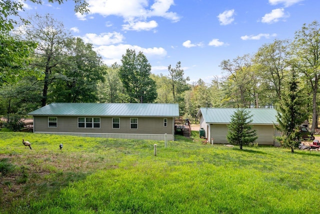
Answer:
[[[107,65],[113,63],[121,64],[122,55],[126,53],[126,49],[135,50],[136,53],[139,51],[143,52],[146,58],[163,58],[166,56],[166,51],[163,48],[142,48],[139,46],[132,45],[110,45],[110,46],[99,46],[94,50],[97,51]]]

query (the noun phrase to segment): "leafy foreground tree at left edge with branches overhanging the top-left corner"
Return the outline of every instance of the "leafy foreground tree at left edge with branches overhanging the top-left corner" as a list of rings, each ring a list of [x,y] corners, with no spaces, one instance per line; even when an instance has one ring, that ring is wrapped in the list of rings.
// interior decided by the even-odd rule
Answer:
[[[9,35],[18,20],[23,25],[28,25],[29,21],[21,18],[19,12],[23,11],[25,1],[1,0],[0,1],[0,86],[19,81],[29,73],[38,76],[34,70],[28,70],[26,58],[36,47],[34,42],[23,41]],[[32,3],[42,4],[40,0],[30,0]],[[62,4],[63,0],[48,0],[49,3]],[[77,13],[88,12],[88,4],[85,0],[73,0],[75,3],[74,11]]]

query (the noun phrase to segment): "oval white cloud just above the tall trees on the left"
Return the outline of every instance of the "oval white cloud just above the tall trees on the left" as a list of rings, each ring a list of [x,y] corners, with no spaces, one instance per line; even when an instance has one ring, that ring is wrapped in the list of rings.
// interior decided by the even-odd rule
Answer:
[[[85,34],[84,37],[81,37],[84,43],[91,43],[95,46],[100,45],[111,45],[121,43],[124,39],[124,36],[117,32],[112,33],[102,33],[99,35],[96,34]]]

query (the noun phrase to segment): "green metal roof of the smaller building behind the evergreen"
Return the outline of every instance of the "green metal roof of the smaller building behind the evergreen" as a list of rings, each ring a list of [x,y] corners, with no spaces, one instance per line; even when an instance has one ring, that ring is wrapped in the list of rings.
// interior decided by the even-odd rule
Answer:
[[[200,108],[197,116],[202,114],[206,123],[229,124],[231,116],[236,110],[236,108]],[[252,115],[251,124],[278,124],[275,109],[246,108],[245,110]]]

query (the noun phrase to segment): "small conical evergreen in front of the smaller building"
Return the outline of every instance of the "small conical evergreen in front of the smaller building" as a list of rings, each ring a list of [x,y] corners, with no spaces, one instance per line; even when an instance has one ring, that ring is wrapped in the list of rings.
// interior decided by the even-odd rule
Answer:
[[[237,109],[231,116],[231,122],[228,125],[226,139],[228,143],[239,144],[242,149],[243,144],[253,143],[258,137],[255,130],[252,130],[252,115],[245,109]]]

